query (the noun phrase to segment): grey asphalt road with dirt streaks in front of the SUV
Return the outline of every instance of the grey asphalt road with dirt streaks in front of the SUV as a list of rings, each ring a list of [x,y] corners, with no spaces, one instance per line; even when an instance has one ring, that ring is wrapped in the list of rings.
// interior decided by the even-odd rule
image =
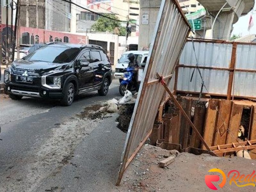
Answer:
[[[114,80],[107,96],[88,93],[70,107],[0,95],[0,191],[116,191],[126,136],[117,115],[85,121],[76,114],[120,97],[118,86]]]

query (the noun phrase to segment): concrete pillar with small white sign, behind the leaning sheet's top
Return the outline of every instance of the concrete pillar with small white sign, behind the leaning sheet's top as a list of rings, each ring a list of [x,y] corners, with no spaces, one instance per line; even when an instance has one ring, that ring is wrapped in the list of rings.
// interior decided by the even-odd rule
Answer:
[[[138,50],[149,48],[155,30],[161,0],[140,0],[140,35]]]

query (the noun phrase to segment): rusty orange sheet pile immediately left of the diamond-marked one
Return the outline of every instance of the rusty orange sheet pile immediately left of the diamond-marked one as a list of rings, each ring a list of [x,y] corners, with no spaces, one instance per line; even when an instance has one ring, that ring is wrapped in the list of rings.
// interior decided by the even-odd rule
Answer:
[[[204,126],[204,140],[209,146],[214,145],[214,132],[218,119],[217,109],[219,109],[219,106],[219,100],[209,100]],[[206,149],[204,145],[202,145],[202,148]]]

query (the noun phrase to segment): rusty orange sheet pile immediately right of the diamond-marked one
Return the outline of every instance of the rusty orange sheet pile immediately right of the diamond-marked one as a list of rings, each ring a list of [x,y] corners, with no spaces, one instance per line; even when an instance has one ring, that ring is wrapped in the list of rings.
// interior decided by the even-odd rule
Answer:
[[[244,106],[233,103],[226,144],[236,142]]]

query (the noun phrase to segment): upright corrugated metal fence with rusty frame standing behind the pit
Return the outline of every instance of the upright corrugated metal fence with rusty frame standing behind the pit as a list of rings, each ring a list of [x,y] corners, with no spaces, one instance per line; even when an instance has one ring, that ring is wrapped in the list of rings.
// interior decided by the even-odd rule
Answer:
[[[209,92],[204,94],[256,98],[256,44],[194,40],[198,66]],[[178,66],[177,92],[200,93],[193,43],[188,40]],[[234,90],[233,90],[234,89]]]

